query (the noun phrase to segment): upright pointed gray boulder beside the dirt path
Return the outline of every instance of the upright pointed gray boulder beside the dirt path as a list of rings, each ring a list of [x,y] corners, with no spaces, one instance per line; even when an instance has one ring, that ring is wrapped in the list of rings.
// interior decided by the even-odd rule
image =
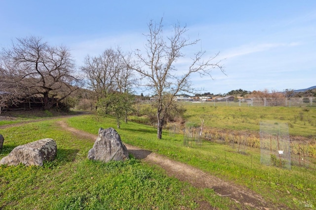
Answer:
[[[128,152],[114,128],[100,128],[98,138],[88,152],[88,158],[103,162],[125,160],[128,159]]]

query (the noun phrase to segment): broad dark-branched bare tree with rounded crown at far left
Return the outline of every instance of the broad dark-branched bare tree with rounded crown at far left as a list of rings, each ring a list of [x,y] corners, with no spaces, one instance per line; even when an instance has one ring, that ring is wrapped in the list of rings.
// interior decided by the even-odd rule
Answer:
[[[1,68],[20,90],[30,96],[42,96],[49,109],[78,89],[79,76],[69,50],[52,47],[42,38],[17,38],[11,49],[2,49]]]

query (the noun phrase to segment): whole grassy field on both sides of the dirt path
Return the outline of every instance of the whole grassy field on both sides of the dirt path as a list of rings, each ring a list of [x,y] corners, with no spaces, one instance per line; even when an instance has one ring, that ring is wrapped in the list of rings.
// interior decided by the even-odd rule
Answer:
[[[198,183],[191,180],[194,176],[180,181],[159,164],[133,154],[125,162],[88,160],[93,139],[64,129],[60,122],[95,137],[99,127],[116,128],[114,118],[90,114],[43,121],[33,118],[33,122],[16,126],[11,125],[15,120],[25,122],[28,117],[1,121],[0,134],[5,141],[0,158],[17,145],[43,138],[56,140],[58,152],[57,158],[43,167],[0,166],[0,209],[316,208],[315,107],[214,107],[207,103],[184,107],[187,126],[199,127],[204,120],[205,139],[198,143],[184,144],[183,132],[172,129],[177,127],[172,124],[164,129],[162,140],[157,140],[155,128],[135,122],[122,123],[117,131],[123,143],[218,177],[236,191],[238,186],[246,188],[262,198],[260,204],[238,203],[230,199],[234,193],[221,194],[216,187],[191,184]],[[287,123],[290,138],[307,141],[311,151],[308,167],[294,164],[288,170],[261,164],[256,143],[245,145],[250,139],[258,141],[261,121]],[[234,146],[226,143],[230,135],[239,136]],[[242,152],[236,149],[238,140],[243,142]]]

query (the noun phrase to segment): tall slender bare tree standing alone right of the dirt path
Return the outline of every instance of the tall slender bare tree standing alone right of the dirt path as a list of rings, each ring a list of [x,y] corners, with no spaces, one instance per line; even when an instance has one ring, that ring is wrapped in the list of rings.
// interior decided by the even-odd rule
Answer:
[[[190,41],[186,38],[184,35],[187,28],[179,24],[173,26],[172,35],[164,37],[162,19],[158,24],[150,21],[148,28],[149,33],[145,35],[145,52],[136,50],[137,61],[135,66],[130,68],[136,70],[142,81],[147,81],[144,85],[157,95],[157,138],[161,139],[165,115],[173,97],[179,92],[193,92],[190,76],[197,73],[200,76],[211,77],[212,69],[219,69],[222,72],[224,70],[219,62],[212,63],[218,54],[203,60],[205,51],[199,50],[191,58],[192,62],[187,70],[177,73],[175,64],[179,58],[185,57],[184,48],[197,44],[199,40]]]

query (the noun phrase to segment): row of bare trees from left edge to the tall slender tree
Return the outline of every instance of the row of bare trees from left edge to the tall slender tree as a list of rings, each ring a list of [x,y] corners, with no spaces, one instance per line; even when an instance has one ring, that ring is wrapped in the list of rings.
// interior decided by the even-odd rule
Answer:
[[[163,20],[152,20],[143,49],[125,53],[108,48],[101,55],[87,55],[79,69],[65,46],[51,46],[36,36],[17,38],[0,51],[0,109],[31,98],[42,99],[43,109],[49,109],[56,104],[72,105],[77,96],[94,100],[90,106],[95,105],[100,114],[115,115],[119,127],[134,101],[133,90],[143,87],[157,96],[153,105],[157,138],[161,139],[168,112],[176,109],[173,97],[196,91],[191,76],[211,78],[214,69],[224,73],[216,60],[218,53],[207,56],[201,49],[184,53],[200,41],[191,40],[187,31],[177,23],[165,34]],[[181,70],[176,65],[180,59],[190,61]]]

